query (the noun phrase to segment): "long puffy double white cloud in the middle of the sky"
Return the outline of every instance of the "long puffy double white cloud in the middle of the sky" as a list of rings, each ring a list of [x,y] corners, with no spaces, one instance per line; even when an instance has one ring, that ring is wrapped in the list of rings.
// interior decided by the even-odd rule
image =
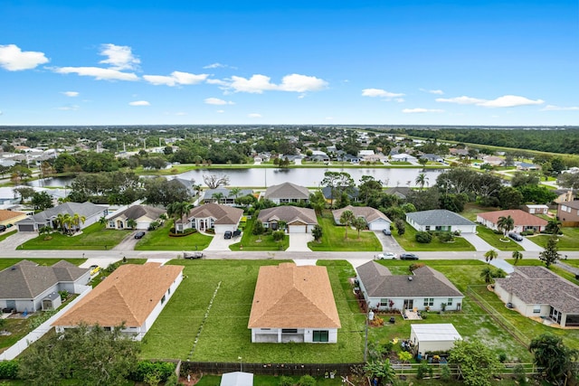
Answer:
[[[235,92],[249,92],[261,94],[263,91],[278,90],[291,92],[319,91],[327,87],[327,81],[307,75],[290,74],[281,79],[279,85],[271,83],[271,78],[265,75],[256,74],[252,78],[246,79],[233,76],[227,85]]]

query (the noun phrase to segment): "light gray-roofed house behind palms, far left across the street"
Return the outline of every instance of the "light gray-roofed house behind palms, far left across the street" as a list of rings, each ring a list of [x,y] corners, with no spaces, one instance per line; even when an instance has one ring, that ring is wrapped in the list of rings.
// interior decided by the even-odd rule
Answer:
[[[49,208],[43,212],[34,214],[33,216],[24,220],[16,222],[18,231],[38,231],[39,229],[49,226],[56,229],[56,218],[59,214],[78,214],[84,216],[85,221],[80,222],[77,231],[80,231],[95,222],[98,222],[101,217],[107,216],[107,208],[101,205],[96,205],[92,202],[64,202],[53,208]]]

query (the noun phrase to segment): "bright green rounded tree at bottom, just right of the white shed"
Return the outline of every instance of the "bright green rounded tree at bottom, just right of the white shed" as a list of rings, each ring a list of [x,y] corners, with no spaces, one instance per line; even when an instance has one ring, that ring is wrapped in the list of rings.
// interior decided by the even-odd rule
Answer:
[[[467,386],[490,386],[490,380],[501,369],[497,354],[478,339],[454,342],[449,362],[460,367]]]

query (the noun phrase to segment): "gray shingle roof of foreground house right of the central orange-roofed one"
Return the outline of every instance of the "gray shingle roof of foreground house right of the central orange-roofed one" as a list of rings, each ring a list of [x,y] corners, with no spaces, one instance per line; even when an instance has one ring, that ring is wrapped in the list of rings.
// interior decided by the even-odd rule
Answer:
[[[464,297],[448,278],[430,267],[415,269],[410,276],[392,275],[388,268],[369,261],[356,271],[368,297]]]

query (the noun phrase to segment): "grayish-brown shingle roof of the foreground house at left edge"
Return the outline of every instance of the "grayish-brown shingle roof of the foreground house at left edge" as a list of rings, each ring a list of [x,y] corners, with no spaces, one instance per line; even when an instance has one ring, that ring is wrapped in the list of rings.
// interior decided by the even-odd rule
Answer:
[[[88,269],[78,268],[64,260],[52,267],[22,260],[0,271],[0,298],[32,299],[59,282],[71,282],[81,278],[87,271]]]

